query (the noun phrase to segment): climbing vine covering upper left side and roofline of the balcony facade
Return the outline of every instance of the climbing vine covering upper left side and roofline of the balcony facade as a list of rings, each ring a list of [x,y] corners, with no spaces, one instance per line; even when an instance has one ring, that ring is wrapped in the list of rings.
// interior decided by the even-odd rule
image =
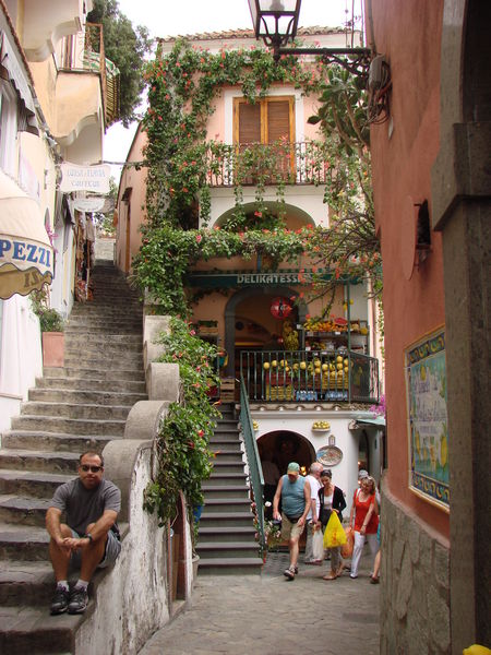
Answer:
[[[190,229],[197,226],[197,199],[203,202],[207,189],[211,153],[217,158],[229,156],[230,146],[206,141],[208,117],[214,100],[225,85],[240,85],[251,103],[266,95],[275,82],[286,82],[310,93],[319,88],[325,74],[319,64],[294,63],[285,58],[275,64],[273,56],[262,48],[221,50],[213,55],[193,49],[185,40],[177,40],[171,52],[157,52],[145,71],[149,108],[144,118],[148,136],[145,151],[147,177],[147,213],[149,225],[167,223]],[[287,147],[286,145],[284,147]],[[261,152],[260,152],[261,151]],[[272,170],[266,160],[276,162],[276,147],[246,148],[233,162],[237,211],[240,213],[243,177],[254,170],[256,201],[261,210],[266,180]],[[231,162],[231,159],[230,159]],[[213,166],[213,163],[212,163]],[[283,198],[285,180],[275,180],[278,198]],[[208,215],[208,196],[200,207],[202,219]]]

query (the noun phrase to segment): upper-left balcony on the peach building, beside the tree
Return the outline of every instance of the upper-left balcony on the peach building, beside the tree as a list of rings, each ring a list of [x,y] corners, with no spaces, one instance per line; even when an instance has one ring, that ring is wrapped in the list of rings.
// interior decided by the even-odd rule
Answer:
[[[61,72],[89,72],[100,76],[106,127],[119,118],[119,70],[104,53],[103,25],[87,23],[85,32],[64,38]]]

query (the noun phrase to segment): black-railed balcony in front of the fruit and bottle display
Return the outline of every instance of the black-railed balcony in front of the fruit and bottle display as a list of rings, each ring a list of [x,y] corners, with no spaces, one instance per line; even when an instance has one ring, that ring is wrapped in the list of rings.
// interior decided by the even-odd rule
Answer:
[[[351,350],[244,350],[240,374],[254,403],[379,402],[379,361]]]

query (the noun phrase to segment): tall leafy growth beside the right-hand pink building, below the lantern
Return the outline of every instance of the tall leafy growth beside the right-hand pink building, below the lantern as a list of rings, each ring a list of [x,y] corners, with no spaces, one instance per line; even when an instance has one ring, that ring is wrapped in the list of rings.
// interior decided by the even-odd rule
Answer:
[[[369,275],[374,295],[382,290],[380,242],[375,235],[375,212],[370,166],[370,126],[367,92],[360,80],[342,67],[332,67],[323,85],[315,116],[331,151],[331,180],[326,184],[330,228],[320,235],[313,250],[320,264],[335,269],[335,279]],[[319,293],[325,285],[318,281]],[[324,286],[324,288],[322,288]]]

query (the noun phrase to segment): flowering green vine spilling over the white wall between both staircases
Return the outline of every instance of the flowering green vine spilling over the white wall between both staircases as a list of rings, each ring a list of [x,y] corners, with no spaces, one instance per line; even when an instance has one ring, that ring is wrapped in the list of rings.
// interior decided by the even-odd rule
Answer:
[[[183,402],[172,403],[157,442],[158,471],[147,486],[144,508],[157,513],[159,525],[176,517],[179,493],[188,508],[203,504],[201,484],[209,477],[213,452],[209,438],[219,412],[209,403],[207,390],[217,384],[212,369],[215,346],[195,335],[189,323],[172,318],[170,333],[161,336],[166,353],[159,361],[179,365]]]

